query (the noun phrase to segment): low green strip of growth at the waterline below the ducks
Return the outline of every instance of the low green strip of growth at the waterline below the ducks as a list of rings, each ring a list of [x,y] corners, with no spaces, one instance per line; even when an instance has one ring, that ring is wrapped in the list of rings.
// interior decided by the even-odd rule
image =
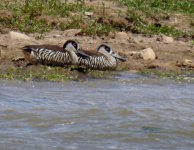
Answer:
[[[75,68],[61,68],[50,66],[31,66],[30,68],[10,68],[1,70],[0,78],[18,79],[24,81],[82,81],[85,79],[108,79],[118,75],[116,71],[87,70],[78,72]]]

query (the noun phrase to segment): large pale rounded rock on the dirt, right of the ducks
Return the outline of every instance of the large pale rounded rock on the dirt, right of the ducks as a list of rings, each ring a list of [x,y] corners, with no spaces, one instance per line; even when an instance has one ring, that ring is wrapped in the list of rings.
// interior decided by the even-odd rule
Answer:
[[[151,48],[146,48],[142,51],[140,51],[140,58],[144,60],[154,60],[156,59],[156,55]]]

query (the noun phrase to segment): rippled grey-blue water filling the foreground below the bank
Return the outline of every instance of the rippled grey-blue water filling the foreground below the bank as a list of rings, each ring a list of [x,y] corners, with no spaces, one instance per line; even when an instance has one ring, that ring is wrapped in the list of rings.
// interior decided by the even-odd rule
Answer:
[[[194,84],[0,80],[1,150],[193,150]]]

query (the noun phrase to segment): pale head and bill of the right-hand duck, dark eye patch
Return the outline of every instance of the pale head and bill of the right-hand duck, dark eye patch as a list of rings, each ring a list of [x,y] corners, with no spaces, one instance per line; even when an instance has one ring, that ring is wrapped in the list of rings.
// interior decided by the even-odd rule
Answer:
[[[97,51],[105,56],[112,56],[115,59],[118,59],[120,61],[126,61],[126,58],[120,56],[119,54],[115,53],[112,48],[106,44],[102,44],[98,47]]]

